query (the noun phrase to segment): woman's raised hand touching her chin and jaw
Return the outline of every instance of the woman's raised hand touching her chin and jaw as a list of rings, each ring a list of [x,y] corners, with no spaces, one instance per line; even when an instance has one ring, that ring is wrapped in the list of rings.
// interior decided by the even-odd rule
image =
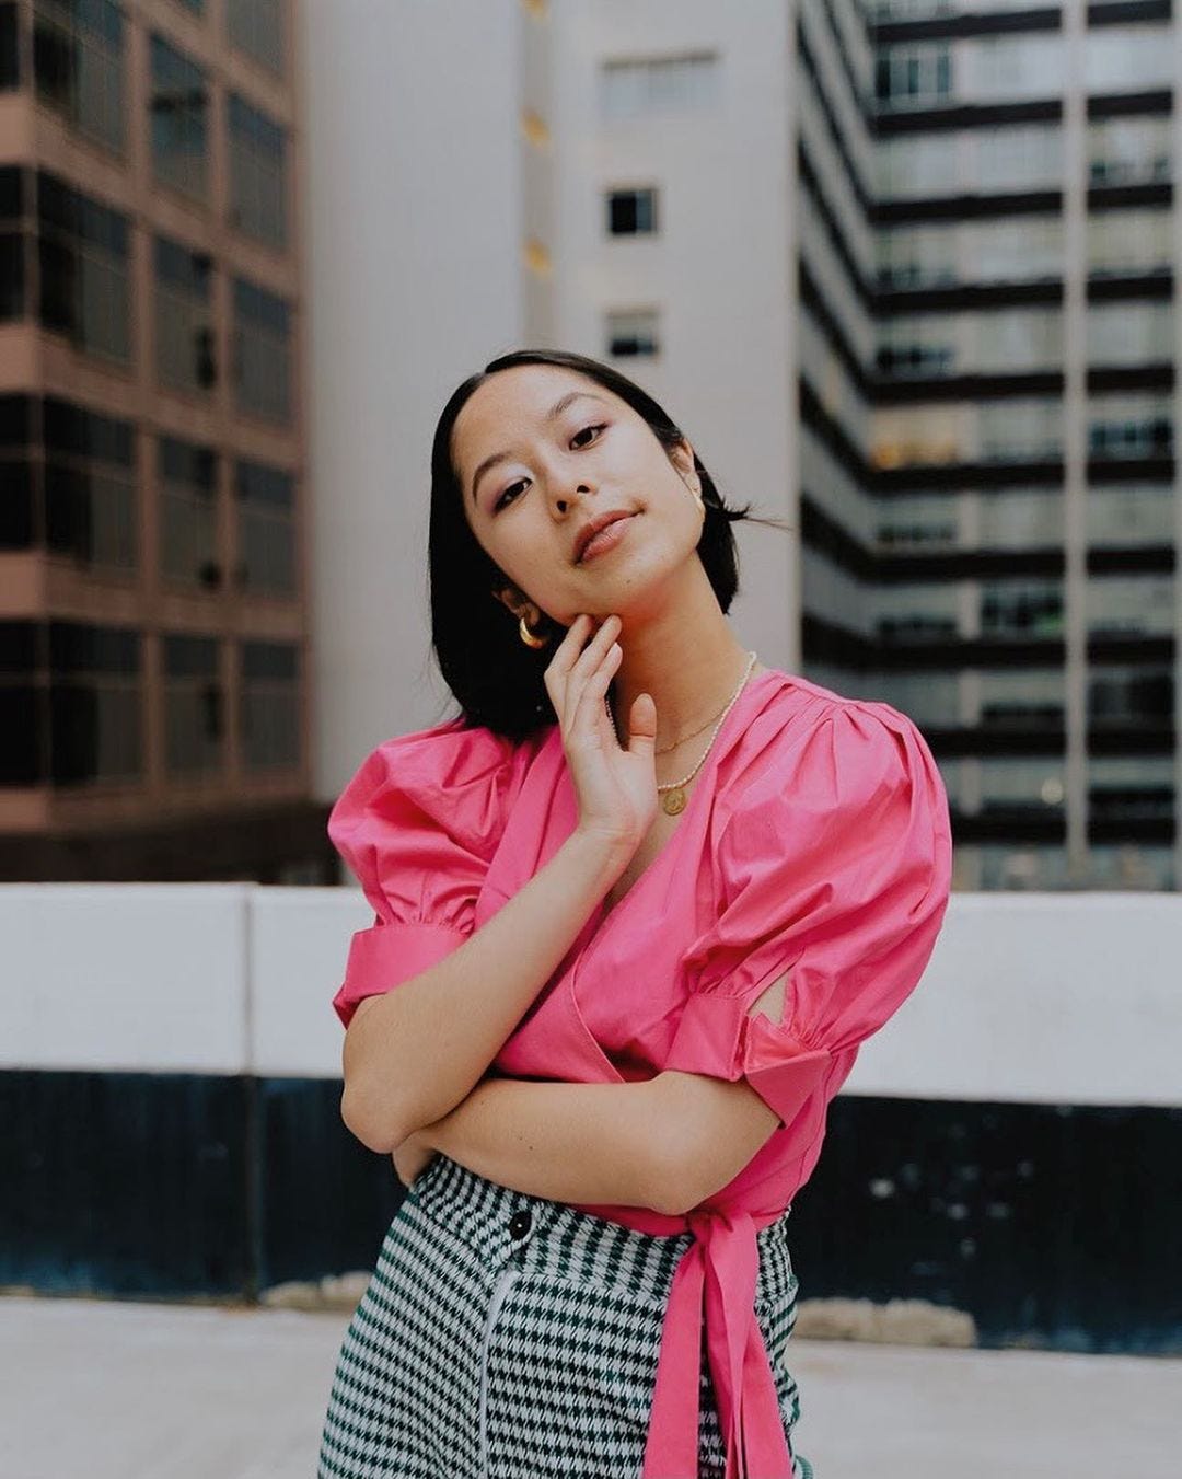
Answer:
[[[657,705],[651,694],[636,695],[632,713],[623,716],[629,744],[621,748],[604,703],[623,657],[615,640],[620,626],[612,614],[587,642],[592,618],[577,615],[544,682],[578,797],[578,827],[635,852],[657,815]]]

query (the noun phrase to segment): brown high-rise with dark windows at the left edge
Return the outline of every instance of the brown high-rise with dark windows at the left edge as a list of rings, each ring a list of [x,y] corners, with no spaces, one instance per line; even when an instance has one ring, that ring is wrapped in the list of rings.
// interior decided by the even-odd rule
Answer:
[[[288,0],[0,4],[0,877],[324,877]]]

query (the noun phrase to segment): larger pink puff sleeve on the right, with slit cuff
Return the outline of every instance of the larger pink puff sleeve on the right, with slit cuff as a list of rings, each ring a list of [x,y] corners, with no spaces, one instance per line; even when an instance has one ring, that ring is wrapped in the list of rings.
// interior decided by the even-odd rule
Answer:
[[[845,700],[760,766],[717,847],[666,1068],[746,1078],[788,1126],[916,988],[951,886],[944,784],[914,723]],[[752,1004],[784,972],[778,1022]],[[836,1089],[834,1089],[836,1092]]]

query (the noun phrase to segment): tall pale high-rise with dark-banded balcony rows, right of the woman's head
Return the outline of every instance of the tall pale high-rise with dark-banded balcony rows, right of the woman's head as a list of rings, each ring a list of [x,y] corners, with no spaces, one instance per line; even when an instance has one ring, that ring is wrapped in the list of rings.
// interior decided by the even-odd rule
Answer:
[[[1169,0],[521,25],[525,337],[787,510],[747,634],[922,726],[959,887],[1178,887]],[[762,583],[784,546],[743,537]]]

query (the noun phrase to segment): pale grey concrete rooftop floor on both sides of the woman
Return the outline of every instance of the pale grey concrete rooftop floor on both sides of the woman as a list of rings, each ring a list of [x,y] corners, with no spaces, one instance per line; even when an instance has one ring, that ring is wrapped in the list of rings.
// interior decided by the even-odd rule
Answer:
[[[0,1297],[0,1479],[312,1479],[346,1324],[345,1313]],[[797,1446],[817,1479],[1179,1473],[1182,1361],[793,1349]]]

